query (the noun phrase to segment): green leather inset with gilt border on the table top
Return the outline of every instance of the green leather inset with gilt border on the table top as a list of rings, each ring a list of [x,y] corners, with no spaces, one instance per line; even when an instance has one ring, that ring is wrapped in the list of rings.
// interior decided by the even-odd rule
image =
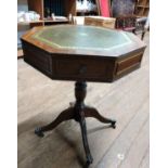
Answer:
[[[131,43],[127,33],[94,26],[43,27],[31,38],[61,49],[112,50]]]

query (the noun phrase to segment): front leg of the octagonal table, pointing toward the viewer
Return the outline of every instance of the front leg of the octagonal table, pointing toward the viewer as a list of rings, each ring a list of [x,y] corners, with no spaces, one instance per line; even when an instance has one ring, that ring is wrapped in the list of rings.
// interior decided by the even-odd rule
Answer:
[[[85,148],[86,157],[87,157],[87,165],[90,165],[92,164],[93,158],[89,150],[89,143],[88,143],[88,138],[87,138],[87,126],[86,126],[86,119],[83,115],[80,115],[79,124],[81,128],[83,148]]]

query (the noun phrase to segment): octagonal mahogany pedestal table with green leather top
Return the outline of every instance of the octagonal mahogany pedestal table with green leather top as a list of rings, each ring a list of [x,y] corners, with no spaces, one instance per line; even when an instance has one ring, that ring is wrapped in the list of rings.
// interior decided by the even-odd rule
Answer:
[[[80,124],[87,163],[91,164],[86,117],[115,128],[115,120],[85,104],[87,81],[112,82],[140,67],[145,44],[133,34],[94,26],[60,25],[35,27],[22,37],[24,60],[51,79],[74,80],[76,103],[35,133],[75,119]]]

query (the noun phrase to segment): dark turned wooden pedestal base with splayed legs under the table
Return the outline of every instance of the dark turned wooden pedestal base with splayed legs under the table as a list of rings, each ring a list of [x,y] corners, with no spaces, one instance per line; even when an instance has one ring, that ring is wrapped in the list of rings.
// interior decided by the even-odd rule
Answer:
[[[39,137],[43,137],[44,135],[43,132],[54,129],[62,121],[75,119],[80,124],[82,142],[83,142],[83,147],[85,147],[86,157],[87,157],[87,164],[91,164],[93,161],[93,158],[89,150],[85,117],[94,117],[104,124],[111,124],[113,128],[116,127],[115,126],[116,121],[101,116],[95,108],[86,106],[83,102],[86,94],[87,94],[87,83],[85,81],[77,81],[75,85],[76,103],[74,107],[69,107],[63,111],[57,116],[57,118],[53,120],[51,124],[43,127],[36,128],[35,133]]]

